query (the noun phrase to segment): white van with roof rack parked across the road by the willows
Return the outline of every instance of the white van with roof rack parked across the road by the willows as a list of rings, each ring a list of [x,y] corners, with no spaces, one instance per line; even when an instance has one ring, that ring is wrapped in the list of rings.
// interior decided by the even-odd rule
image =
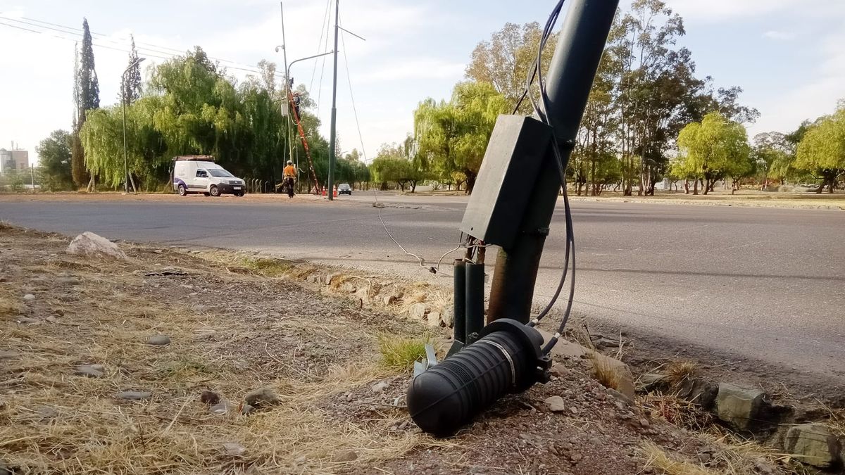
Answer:
[[[210,155],[173,157],[172,177],[173,190],[182,196],[188,193],[243,196],[246,193],[243,180],[217,165]]]

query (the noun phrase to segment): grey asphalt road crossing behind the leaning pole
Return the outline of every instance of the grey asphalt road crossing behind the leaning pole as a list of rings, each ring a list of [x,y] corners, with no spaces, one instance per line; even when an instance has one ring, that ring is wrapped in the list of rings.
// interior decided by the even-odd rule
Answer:
[[[432,265],[454,248],[466,199],[381,198],[396,240]],[[335,205],[230,197],[0,201],[0,220],[74,235],[268,251],[433,278],[384,232],[372,195]],[[845,212],[575,201],[575,312],[605,324],[845,380]],[[559,279],[559,205],[536,303]],[[492,261],[492,259],[490,259]],[[444,273],[450,259],[444,259]],[[492,268],[489,270],[492,274]]]

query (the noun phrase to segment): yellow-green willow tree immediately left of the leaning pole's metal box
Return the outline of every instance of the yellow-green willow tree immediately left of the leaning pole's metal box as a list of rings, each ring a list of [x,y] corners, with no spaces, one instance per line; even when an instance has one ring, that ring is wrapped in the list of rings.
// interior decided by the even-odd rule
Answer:
[[[449,102],[429,98],[414,112],[419,169],[436,176],[461,172],[472,193],[493,126],[508,103],[490,83],[455,85]]]

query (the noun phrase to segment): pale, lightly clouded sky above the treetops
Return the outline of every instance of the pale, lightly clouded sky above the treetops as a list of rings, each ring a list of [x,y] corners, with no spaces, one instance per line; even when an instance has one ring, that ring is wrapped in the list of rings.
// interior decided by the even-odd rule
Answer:
[[[711,76],[717,87],[739,85],[741,101],[760,110],[750,137],[791,131],[804,119],[832,112],[845,98],[842,0],[666,2],[684,18],[687,34],[679,44],[692,51],[697,74]],[[289,63],[331,49],[331,41],[324,41],[327,5],[284,2]],[[366,41],[341,32],[340,150],[363,148],[372,160],[380,144],[404,139],[418,102],[449,97],[479,41],[507,22],[542,24],[552,7],[551,0],[341,0],[341,26]],[[194,45],[238,80],[262,59],[282,63],[282,52],[275,52],[282,44],[277,1],[0,0],[0,147],[14,141],[30,150],[31,161],[41,139],[71,127],[74,41],[81,42],[81,33],[65,27],[80,29],[83,17],[95,34],[102,106],[118,102],[129,34],[139,56],[147,58],[144,75],[163,57]],[[331,56],[298,62],[291,70],[297,85],[306,85],[318,101],[326,137],[331,74]]]

